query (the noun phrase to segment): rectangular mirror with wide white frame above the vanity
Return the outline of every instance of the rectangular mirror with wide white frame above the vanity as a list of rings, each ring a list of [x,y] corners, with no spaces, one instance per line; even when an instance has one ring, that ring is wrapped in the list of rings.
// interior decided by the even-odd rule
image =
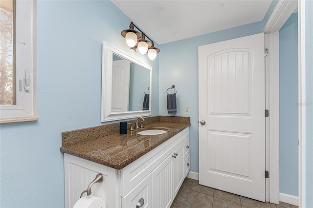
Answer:
[[[152,66],[103,42],[101,122],[151,115]]]

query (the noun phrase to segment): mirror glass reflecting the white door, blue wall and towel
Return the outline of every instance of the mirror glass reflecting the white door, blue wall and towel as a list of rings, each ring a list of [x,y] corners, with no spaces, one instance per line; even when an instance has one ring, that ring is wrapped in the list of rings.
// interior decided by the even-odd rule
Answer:
[[[149,110],[150,71],[112,54],[112,112]]]

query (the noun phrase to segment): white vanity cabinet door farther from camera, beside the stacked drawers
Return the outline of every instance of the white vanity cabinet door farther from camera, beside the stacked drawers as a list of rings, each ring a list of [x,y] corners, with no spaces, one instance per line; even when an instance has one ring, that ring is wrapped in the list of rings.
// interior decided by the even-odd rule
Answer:
[[[184,143],[183,143],[184,144]],[[173,153],[173,188],[174,196],[179,191],[179,188],[185,178],[185,157],[184,157],[184,145],[181,144]]]

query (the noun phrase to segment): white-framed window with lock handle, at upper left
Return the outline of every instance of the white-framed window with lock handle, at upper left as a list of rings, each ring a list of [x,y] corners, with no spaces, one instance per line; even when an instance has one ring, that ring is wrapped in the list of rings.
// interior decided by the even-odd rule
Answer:
[[[34,120],[36,1],[0,0],[0,123]]]

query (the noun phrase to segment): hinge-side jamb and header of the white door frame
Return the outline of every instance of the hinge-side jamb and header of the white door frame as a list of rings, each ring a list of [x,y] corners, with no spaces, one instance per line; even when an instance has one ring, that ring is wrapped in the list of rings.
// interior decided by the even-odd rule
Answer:
[[[266,169],[269,171],[269,178],[268,180],[266,180],[266,201],[275,204],[279,204],[280,201],[279,200],[280,194],[279,193],[279,30],[284,25],[284,23],[289,19],[291,14],[297,9],[297,6],[298,6],[297,0],[278,1],[275,9],[273,10],[271,16],[269,17],[262,31],[265,33],[265,47],[269,49],[270,53],[270,56],[266,57],[266,69],[265,69],[266,109],[268,109],[270,113],[270,116],[266,119],[266,157],[267,157]],[[299,121],[300,115],[301,114],[299,114]],[[299,147],[299,154],[300,151],[301,149]],[[301,201],[300,193],[301,192],[299,191],[299,202]]]

